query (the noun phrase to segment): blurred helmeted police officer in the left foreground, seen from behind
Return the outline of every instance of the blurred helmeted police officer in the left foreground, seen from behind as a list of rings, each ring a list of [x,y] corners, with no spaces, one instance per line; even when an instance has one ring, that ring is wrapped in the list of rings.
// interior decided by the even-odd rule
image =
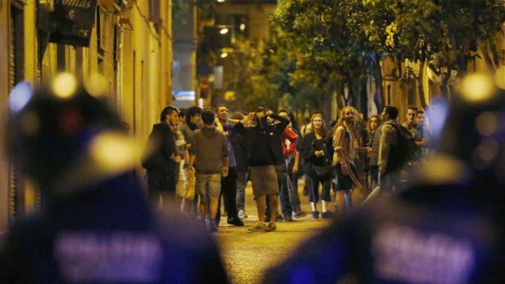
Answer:
[[[3,239],[2,283],[228,282],[204,227],[149,206],[120,120],[68,76],[10,121],[11,158],[49,201]]]

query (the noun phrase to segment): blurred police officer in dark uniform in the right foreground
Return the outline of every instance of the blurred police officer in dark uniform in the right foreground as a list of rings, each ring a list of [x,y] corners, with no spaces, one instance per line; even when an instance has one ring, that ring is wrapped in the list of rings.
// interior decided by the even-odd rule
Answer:
[[[503,283],[505,91],[462,86],[448,116],[428,111],[445,131],[407,190],[341,216],[264,282]]]

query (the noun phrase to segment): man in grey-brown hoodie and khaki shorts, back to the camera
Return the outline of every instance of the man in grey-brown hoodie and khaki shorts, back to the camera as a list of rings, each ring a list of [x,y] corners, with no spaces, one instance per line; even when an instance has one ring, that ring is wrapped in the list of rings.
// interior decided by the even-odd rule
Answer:
[[[214,127],[216,116],[211,110],[201,114],[203,127],[194,131],[189,166],[196,164],[195,194],[200,195],[200,218],[210,213],[209,229],[217,231],[214,220],[221,191],[221,175],[228,175],[229,150],[226,136]],[[210,212],[209,212],[210,211]]]

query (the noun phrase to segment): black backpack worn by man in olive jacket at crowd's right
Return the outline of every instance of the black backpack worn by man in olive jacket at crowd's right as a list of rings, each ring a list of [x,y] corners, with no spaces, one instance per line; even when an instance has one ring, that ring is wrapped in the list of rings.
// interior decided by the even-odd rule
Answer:
[[[387,171],[395,171],[405,166],[414,158],[418,151],[414,137],[412,137],[409,129],[396,123],[392,123],[391,126],[395,129],[397,144],[391,145],[389,150]]]

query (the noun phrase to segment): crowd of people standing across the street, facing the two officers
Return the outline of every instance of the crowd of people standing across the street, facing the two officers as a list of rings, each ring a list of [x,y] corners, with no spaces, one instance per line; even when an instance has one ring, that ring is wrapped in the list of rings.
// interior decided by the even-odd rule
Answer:
[[[259,222],[249,231],[267,232],[276,229],[277,220],[309,214],[300,207],[301,176],[312,219],[328,219],[394,191],[428,155],[425,114],[415,106],[407,108],[403,123],[393,106],[368,122],[352,107],[337,117],[327,126],[323,115],[314,113],[300,129],[286,109],[274,113],[259,107],[229,117],[225,105],[215,110],[167,107],[148,141],[163,146],[142,162],[151,200],[171,204],[175,194],[183,212],[217,231],[221,211],[228,224],[244,225],[245,187],[251,181]],[[157,159],[165,159],[167,166],[150,162]]]

